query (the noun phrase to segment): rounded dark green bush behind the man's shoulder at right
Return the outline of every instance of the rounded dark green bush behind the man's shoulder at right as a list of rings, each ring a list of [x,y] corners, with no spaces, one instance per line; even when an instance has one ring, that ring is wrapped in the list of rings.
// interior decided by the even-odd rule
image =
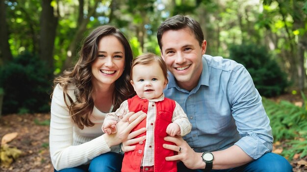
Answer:
[[[252,43],[234,45],[230,47],[230,59],[246,67],[262,96],[280,95],[289,86],[286,73],[264,47]]]

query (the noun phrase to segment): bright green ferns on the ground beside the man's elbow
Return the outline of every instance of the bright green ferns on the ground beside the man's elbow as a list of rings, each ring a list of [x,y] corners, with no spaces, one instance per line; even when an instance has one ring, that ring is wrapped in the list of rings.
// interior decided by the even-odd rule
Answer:
[[[297,107],[290,102],[279,104],[262,99],[263,106],[270,118],[275,141],[284,141],[289,147],[281,155],[291,160],[296,153],[301,157],[307,154],[307,108]],[[307,100],[305,99],[305,105]]]

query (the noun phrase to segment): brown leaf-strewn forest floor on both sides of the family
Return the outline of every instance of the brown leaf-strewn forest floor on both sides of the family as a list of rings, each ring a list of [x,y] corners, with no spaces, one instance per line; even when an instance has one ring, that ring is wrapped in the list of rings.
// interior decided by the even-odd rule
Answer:
[[[302,102],[300,95],[284,94],[272,99],[287,100],[292,103]],[[49,120],[50,114],[11,114],[0,118],[0,138],[7,133],[17,132],[15,139],[8,143],[22,151],[9,167],[0,167],[0,172],[53,172],[49,154]],[[278,153],[282,143],[274,145]],[[290,163],[294,172],[307,172],[307,165],[299,162],[305,158],[294,158]]]

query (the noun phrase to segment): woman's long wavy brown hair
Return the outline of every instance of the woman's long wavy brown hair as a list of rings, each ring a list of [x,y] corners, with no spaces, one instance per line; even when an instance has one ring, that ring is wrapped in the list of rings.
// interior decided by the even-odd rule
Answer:
[[[61,76],[56,77],[53,81],[54,86],[59,84],[63,87],[64,101],[69,108],[70,116],[80,129],[83,129],[84,126],[94,126],[94,123],[89,118],[94,108],[94,100],[91,96],[93,92],[91,64],[97,58],[99,41],[103,37],[110,35],[116,37],[125,48],[125,70],[122,76],[115,81],[115,91],[112,98],[114,108],[112,111],[115,111],[123,101],[135,94],[129,79],[133,55],[128,40],[114,26],[102,25],[95,28],[85,38],[82,48],[79,51],[79,60],[75,67],[70,70],[65,70]],[[76,86],[77,88],[74,91],[76,96],[75,102],[68,95],[68,86],[70,85]],[[67,102],[67,99],[70,104]]]

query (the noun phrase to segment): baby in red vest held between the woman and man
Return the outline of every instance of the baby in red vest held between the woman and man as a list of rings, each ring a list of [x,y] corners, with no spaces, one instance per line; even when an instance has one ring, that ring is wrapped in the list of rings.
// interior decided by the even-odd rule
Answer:
[[[174,151],[164,149],[164,137],[184,136],[191,131],[183,109],[174,100],[164,97],[163,89],[168,83],[167,68],[162,58],[153,53],[140,55],[133,60],[130,82],[136,96],[124,101],[115,112],[108,113],[104,119],[102,130],[111,134],[116,132],[116,123],[129,111],[142,110],[147,118],[131,132],[146,127],[146,140],[135,144],[134,151],[125,152],[122,172],[177,172],[176,161],[166,161],[165,157],[173,156]],[[141,165],[141,167],[140,167]]]

